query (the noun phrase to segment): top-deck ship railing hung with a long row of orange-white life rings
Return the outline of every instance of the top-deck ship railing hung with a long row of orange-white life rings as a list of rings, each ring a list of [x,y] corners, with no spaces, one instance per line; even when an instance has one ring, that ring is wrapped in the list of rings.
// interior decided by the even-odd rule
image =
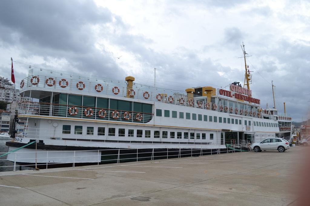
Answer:
[[[68,93],[70,91],[78,91],[78,92],[86,91],[87,94],[97,94],[97,95],[104,94],[104,95],[110,95],[111,98],[113,96],[115,97],[121,96],[121,97],[127,97],[128,99],[141,99],[141,100],[146,100],[146,101],[169,103],[169,104],[175,104],[175,105],[180,105],[180,106],[194,107],[194,108],[207,109],[207,110],[219,111],[219,112],[230,113],[230,114],[237,114],[237,115],[242,115],[242,116],[252,116],[252,117],[262,118],[261,113],[259,113],[258,111],[248,110],[248,109],[239,108],[239,107],[226,106],[220,103],[206,102],[203,99],[201,99],[201,97],[191,99],[191,98],[187,98],[187,96],[184,94],[176,93],[176,92],[173,92],[172,90],[165,90],[165,89],[159,89],[159,88],[158,89],[153,88],[152,90],[150,89],[150,87],[140,85],[140,84],[134,84],[132,91],[131,91],[129,90],[131,88],[127,88],[126,86],[120,86],[121,84],[126,85],[126,83],[124,82],[116,83],[115,81],[114,82],[83,81],[83,83],[85,84],[85,87],[82,90],[79,90],[77,88],[77,83],[80,82],[81,79],[68,79],[68,86],[63,88],[61,87],[61,86],[64,86],[63,83],[59,84],[59,82],[61,82],[63,78],[52,77],[55,80],[55,85],[47,86],[46,80],[50,78],[49,76],[37,76],[39,77],[39,82],[36,85],[33,85],[33,83],[31,83],[32,77],[33,76],[29,76],[23,79],[24,86],[21,88],[21,92],[25,88],[28,88],[28,87],[49,88],[51,89],[51,91],[54,89],[60,89],[60,90],[64,90],[64,93],[66,92]],[[103,86],[102,91],[100,89],[100,92],[95,90],[95,86],[98,83],[100,83]],[[117,89],[115,89],[115,87],[117,87]],[[98,87],[97,87],[97,90],[98,90]],[[130,97],[129,95],[132,95],[132,97]]]

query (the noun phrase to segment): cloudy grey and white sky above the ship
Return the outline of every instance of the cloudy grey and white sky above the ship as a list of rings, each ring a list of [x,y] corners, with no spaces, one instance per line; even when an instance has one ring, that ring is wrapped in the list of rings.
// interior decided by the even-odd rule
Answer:
[[[0,2],[0,74],[19,83],[28,66],[184,90],[244,81],[254,98],[294,121],[310,100],[310,2],[243,0]],[[115,58],[120,57],[121,58]]]

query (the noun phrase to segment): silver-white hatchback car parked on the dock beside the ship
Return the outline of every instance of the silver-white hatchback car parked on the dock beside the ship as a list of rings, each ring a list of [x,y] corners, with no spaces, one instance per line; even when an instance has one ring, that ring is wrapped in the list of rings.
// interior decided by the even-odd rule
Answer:
[[[279,152],[284,152],[286,149],[290,149],[290,143],[284,139],[274,137],[252,144],[251,149],[255,152],[262,150],[278,150]]]

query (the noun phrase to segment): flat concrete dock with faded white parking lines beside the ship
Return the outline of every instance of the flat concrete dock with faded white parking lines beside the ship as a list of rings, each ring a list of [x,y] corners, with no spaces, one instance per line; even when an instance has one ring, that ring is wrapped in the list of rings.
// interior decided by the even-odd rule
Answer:
[[[305,147],[0,173],[0,205],[294,205]]]

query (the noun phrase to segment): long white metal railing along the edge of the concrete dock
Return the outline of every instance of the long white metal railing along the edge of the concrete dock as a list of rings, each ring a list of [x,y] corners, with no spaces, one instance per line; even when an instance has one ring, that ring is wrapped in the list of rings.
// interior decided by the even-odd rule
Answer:
[[[98,150],[72,150],[72,151],[33,151],[33,152],[14,152],[9,154],[7,159],[0,159],[2,171],[28,170],[29,167],[37,166],[40,169],[62,166],[99,165],[108,163],[155,161],[159,159],[197,157],[202,155],[216,155],[230,153],[234,150],[220,148],[220,145],[211,145],[210,148],[202,146],[180,147],[153,147],[153,148],[134,148],[134,149],[98,149]],[[0,153],[0,155],[6,153]],[[8,162],[10,161],[10,162]],[[20,164],[21,162],[38,162],[37,164]],[[109,166],[107,166],[109,167]]]

